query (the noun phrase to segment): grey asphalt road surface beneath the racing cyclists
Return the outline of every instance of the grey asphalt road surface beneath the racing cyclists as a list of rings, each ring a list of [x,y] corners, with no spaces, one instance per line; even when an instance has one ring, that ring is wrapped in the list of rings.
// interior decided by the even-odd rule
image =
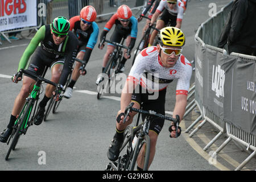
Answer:
[[[197,27],[209,18],[209,0],[191,0],[184,15],[182,30],[186,37],[186,44],[183,48],[183,55],[188,60],[193,60],[195,46],[194,36]],[[226,5],[228,0],[217,0],[217,10]],[[142,27],[145,20],[138,24],[138,39],[141,38]],[[100,30],[105,22],[98,24]],[[114,29],[114,28],[113,28]],[[24,32],[26,34],[26,32]],[[111,35],[111,32],[108,36]],[[217,39],[217,38],[216,38]],[[10,78],[18,68],[19,59],[26,49],[29,39],[22,39],[12,44],[2,42],[0,46],[0,129],[5,129],[10,119],[11,109],[16,95],[19,93],[21,82],[13,84]],[[138,42],[137,42],[138,43]],[[136,44],[137,45],[137,44]],[[13,47],[12,47],[13,46]],[[17,149],[10,154],[10,160],[5,161],[5,155],[9,148],[6,144],[0,143],[0,170],[104,170],[109,160],[106,151],[110,140],[115,132],[115,116],[119,110],[119,94],[112,94],[101,100],[97,100],[95,92],[98,74],[101,72],[102,57],[106,48],[100,50],[94,48],[89,63],[86,66],[88,74],[80,77],[75,85],[73,97],[64,99],[59,107],[59,112],[50,114],[47,122],[40,126],[33,125],[23,135],[18,143]],[[131,61],[127,61],[125,74],[129,73]],[[49,74],[46,76],[49,78]],[[191,84],[194,82],[194,75]],[[168,87],[166,110],[172,111],[175,104],[175,82]],[[45,86],[44,86],[45,89]],[[85,90],[85,91],[82,91]],[[91,92],[88,92],[91,91]],[[43,91],[42,91],[43,92]],[[43,94],[40,96],[43,98]],[[195,114],[196,115],[196,114]],[[185,118],[183,128],[192,122],[193,114]],[[218,165],[211,165],[207,160],[207,152],[203,155],[197,149],[204,144],[195,137],[195,140],[188,139],[184,133],[177,139],[170,139],[166,123],[161,131],[156,146],[154,162],[150,170],[209,170],[217,171],[222,169],[234,169],[234,166],[221,168]],[[211,128],[210,126],[207,126]],[[184,131],[184,130],[183,130]],[[212,135],[216,131],[212,131]],[[209,135],[208,135],[209,136]],[[195,148],[196,142],[198,147]],[[45,154],[46,160],[43,160]],[[238,155],[237,158],[246,157]],[[240,157],[241,156],[241,157]],[[222,161],[222,160],[221,160]],[[45,162],[45,163],[44,163]],[[224,162],[227,163],[227,162]],[[236,165],[236,164],[235,164]]]

